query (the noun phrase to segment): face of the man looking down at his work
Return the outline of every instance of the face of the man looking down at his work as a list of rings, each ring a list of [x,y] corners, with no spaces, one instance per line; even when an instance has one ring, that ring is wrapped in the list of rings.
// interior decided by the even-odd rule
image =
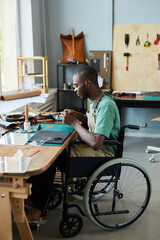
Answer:
[[[74,85],[74,92],[80,98],[88,98],[88,88],[87,88],[87,80],[83,81],[80,79],[78,75],[73,76],[73,85]]]

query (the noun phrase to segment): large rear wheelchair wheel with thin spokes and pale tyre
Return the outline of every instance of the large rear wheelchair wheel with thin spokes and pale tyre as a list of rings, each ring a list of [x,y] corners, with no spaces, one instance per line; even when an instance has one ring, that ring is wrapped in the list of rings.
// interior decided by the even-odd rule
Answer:
[[[111,183],[114,187],[106,191]],[[96,199],[97,194],[102,197]],[[118,229],[142,215],[150,195],[147,171],[136,161],[114,159],[100,166],[90,177],[84,192],[84,209],[97,226]]]

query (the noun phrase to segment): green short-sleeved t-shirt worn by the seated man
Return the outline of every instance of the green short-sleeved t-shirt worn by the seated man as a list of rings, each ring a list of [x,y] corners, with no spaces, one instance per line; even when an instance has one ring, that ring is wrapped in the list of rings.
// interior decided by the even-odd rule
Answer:
[[[90,101],[90,113],[93,113],[94,101]],[[120,131],[120,116],[116,103],[110,96],[104,96],[95,110],[94,133],[106,138],[117,139]],[[108,145],[108,149],[115,154],[116,146]]]

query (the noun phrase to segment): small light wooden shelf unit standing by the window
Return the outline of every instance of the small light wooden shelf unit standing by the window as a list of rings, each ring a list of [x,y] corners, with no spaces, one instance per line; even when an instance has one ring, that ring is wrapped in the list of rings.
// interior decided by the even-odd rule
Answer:
[[[40,62],[41,73],[29,72],[27,65],[29,61],[33,61],[33,65]],[[24,82],[24,77],[40,77],[42,82],[40,85],[40,90],[42,93],[48,92],[48,58],[47,57],[30,57],[30,58],[17,58],[17,80],[18,80],[18,91],[21,91],[21,85]]]

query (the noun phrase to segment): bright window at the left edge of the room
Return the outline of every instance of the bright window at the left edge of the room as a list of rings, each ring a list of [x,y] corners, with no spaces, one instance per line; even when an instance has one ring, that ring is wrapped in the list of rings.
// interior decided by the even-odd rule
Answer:
[[[0,0],[0,86],[2,92],[17,89],[15,3],[16,0]]]

